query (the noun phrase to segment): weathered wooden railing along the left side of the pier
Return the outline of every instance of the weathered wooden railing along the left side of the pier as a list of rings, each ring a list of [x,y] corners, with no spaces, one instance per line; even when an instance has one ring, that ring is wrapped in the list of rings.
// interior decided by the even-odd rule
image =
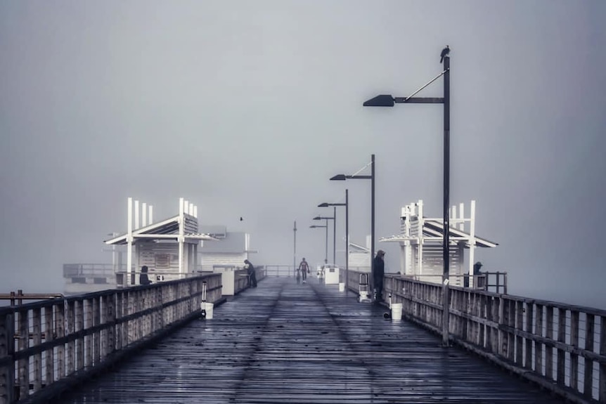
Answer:
[[[221,274],[0,308],[0,404],[43,403],[221,299]]]

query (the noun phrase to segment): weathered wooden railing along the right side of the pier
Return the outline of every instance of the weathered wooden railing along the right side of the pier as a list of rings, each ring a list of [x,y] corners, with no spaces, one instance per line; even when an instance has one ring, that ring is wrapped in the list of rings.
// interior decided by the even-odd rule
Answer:
[[[349,288],[356,275],[350,273]],[[442,286],[385,275],[408,320],[441,333]],[[450,340],[574,403],[606,403],[606,311],[451,287]]]

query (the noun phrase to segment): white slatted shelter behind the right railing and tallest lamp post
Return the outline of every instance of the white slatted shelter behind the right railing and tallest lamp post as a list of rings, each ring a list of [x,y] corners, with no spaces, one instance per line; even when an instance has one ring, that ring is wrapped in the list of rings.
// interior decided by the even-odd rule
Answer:
[[[498,244],[475,234],[475,201],[470,203],[470,216],[465,217],[461,203],[451,208],[449,228],[449,280],[453,286],[463,286],[465,272],[469,286],[474,287],[475,248],[496,247]],[[401,234],[380,239],[380,242],[398,242],[401,248],[401,273],[424,282],[440,283],[444,271],[442,249],[444,219],[424,216],[423,200],[402,207]],[[469,250],[468,270],[465,271],[465,250]]]

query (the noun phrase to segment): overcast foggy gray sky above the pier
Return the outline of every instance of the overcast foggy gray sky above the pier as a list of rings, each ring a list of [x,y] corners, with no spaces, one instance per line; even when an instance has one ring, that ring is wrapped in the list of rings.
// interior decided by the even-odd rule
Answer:
[[[1,292],[110,261],[129,196],[155,219],[191,200],[251,233],[260,264],[292,263],[296,220],[297,256],[319,262],[311,218],[346,187],[352,242],[370,233],[369,181],[328,178],[372,153],[378,238],[409,202],[441,216],[441,106],[362,103],[408,96],[449,44],[451,203],[476,200],[499,243],[477,258],[513,294],[606,307],[605,16],[598,0],[1,1]],[[397,245],[377,248],[398,271]]]

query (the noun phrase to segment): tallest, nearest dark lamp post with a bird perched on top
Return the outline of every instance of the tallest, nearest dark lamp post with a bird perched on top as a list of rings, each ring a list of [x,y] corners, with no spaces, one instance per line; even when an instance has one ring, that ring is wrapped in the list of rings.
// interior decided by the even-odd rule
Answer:
[[[419,91],[432,84],[439,77],[444,76],[444,98],[413,97]],[[380,95],[372,98],[363,105],[365,107],[393,107],[394,103],[418,103],[418,104],[444,104],[444,237],[442,244],[442,259],[444,268],[442,271],[442,344],[449,344],[449,231],[450,231],[450,57],[444,56],[444,70],[434,77],[430,82],[420,87],[408,97],[392,97]]]

